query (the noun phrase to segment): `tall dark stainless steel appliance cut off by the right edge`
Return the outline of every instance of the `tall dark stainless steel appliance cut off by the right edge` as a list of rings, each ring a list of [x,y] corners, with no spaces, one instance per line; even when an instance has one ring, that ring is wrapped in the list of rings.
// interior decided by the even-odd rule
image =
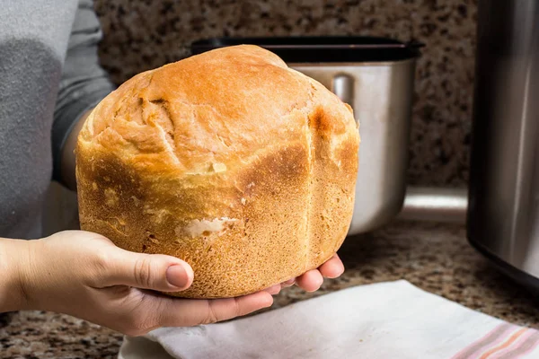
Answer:
[[[539,288],[539,2],[480,0],[468,238]]]

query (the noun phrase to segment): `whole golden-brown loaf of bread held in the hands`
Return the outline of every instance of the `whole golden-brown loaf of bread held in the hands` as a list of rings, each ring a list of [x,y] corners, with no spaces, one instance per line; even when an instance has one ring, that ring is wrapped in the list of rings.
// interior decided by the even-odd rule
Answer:
[[[137,74],[78,137],[82,229],[187,261],[190,298],[259,291],[319,267],[349,229],[358,125],[321,83],[256,46]]]

